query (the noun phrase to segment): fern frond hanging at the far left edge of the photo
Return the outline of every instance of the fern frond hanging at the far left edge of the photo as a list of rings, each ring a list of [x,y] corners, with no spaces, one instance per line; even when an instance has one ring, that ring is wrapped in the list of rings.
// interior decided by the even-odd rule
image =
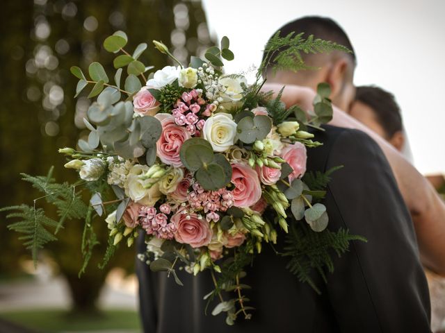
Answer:
[[[0,212],[12,211],[6,215],[7,219],[18,218],[21,221],[8,225],[9,230],[14,230],[20,234],[19,239],[24,241],[24,246],[31,250],[34,266],[37,266],[38,250],[50,241],[56,241],[57,238],[47,230],[47,228],[56,228],[57,221],[49,219],[44,214],[42,208],[35,209],[29,205],[17,205],[4,207]]]

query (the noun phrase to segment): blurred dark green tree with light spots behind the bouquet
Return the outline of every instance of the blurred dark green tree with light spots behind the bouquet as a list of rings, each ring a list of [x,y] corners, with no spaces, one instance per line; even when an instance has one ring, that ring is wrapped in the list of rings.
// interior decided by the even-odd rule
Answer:
[[[113,55],[102,42],[113,32],[129,35],[127,49],[147,42],[142,61],[159,69],[168,65],[165,55],[152,46],[161,40],[174,55],[186,62],[211,46],[200,1],[177,0],[34,0],[3,1],[0,10],[0,184],[1,207],[32,204],[38,194],[19,173],[44,175],[54,165],[58,182],[74,181],[76,173],[65,170],[58,148],[75,146],[84,130],[83,117],[89,106],[85,94],[74,100],[77,79],[70,67],[87,71],[100,59],[112,68]],[[44,200],[38,201],[44,207]],[[21,262],[29,254],[9,232],[0,216],[0,274],[11,278],[21,274]],[[58,233],[60,241],[50,244],[47,255],[56,263],[70,286],[74,309],[90,311],[104,284],[106,274],[120,266],[131,272],[134,252],[121,246],[103,271],[97,268],[106,248],[106,223],[95,221],[102,236],[94,257],[81,280],[82,221],[69,223]]]

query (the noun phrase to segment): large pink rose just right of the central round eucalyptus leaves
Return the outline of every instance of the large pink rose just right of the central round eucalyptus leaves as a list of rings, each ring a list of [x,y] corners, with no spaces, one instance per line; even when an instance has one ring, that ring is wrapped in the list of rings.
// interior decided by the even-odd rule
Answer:
[[[248,165],[232,164],[232,191],[236,207],[249,207],[261,198],[261,184],[257,172]]]

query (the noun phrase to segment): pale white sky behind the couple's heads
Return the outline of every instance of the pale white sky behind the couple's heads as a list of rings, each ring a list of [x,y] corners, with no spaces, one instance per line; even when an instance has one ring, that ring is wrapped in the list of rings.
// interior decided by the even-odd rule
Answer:
[[[263,6],[260,6],[260,4]],[[422,173],[445,173],[445,1],[203,0],[211,35],[230,39],[227,73],[259,65],[268,37],[298,17],[336,20],[357,54],[356,85],[396,96]]]

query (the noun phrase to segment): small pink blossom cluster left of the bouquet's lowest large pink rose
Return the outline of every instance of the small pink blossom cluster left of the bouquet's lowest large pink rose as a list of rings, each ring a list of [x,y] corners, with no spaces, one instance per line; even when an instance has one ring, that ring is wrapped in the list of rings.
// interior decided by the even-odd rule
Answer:
[[[157,212],[155,207],[142,206],[139,210],[139,221],[147,234],[154,234],[157,238],[173,239],[175,237],[175,223],[167,223],[170,206],[163,204]]]

